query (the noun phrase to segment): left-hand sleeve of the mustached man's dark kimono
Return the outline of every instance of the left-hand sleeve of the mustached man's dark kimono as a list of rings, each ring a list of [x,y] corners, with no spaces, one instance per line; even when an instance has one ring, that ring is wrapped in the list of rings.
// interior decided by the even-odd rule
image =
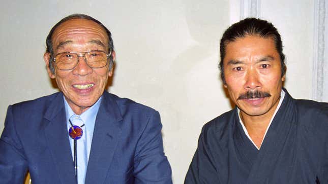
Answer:
[[[208,144],[207,138],[213,136],[212,131],[208,131],[206,125],[203,127],[202,132],[198,139],[198,148],[189,166],[185,183],[220,183],[218,172],[215,167],[215,159],[212,155],[211,145]]]

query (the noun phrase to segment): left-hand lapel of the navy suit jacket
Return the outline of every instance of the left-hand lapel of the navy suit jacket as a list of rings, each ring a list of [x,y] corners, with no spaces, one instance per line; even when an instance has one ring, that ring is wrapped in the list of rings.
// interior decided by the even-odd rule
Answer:
[[[44,127],[45,139],[58,177],[62,183],[76,183],[62,93],[58,93],[50,103],[44,119],[47,122]],[[50,164],[50,167],[53,164]]]

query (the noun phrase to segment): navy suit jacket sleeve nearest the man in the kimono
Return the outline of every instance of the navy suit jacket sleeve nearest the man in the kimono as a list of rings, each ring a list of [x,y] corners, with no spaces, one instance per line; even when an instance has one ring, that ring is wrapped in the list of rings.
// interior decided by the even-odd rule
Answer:
[[[151,113],[136,146],[135,183],[172,183],[171,168],[163,151],[161,121]]]

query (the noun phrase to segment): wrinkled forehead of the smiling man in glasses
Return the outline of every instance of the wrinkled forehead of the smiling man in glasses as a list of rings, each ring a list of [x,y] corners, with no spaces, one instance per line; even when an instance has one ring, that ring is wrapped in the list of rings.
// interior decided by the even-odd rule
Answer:
[[[108,49],[108,35],[98,23],[87,19],[71,19],[59,25],[52,34],[53,50],[66,44],[98,44]]]

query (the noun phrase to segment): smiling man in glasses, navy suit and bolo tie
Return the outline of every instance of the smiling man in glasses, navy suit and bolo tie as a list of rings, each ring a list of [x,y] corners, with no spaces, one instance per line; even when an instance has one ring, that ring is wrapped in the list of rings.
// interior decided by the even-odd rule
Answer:
[[[0,183],[172,183],[159,113],[105,90],[109,30],[74,14],[49,32],[44,60],[61,92],[8,107]]]

